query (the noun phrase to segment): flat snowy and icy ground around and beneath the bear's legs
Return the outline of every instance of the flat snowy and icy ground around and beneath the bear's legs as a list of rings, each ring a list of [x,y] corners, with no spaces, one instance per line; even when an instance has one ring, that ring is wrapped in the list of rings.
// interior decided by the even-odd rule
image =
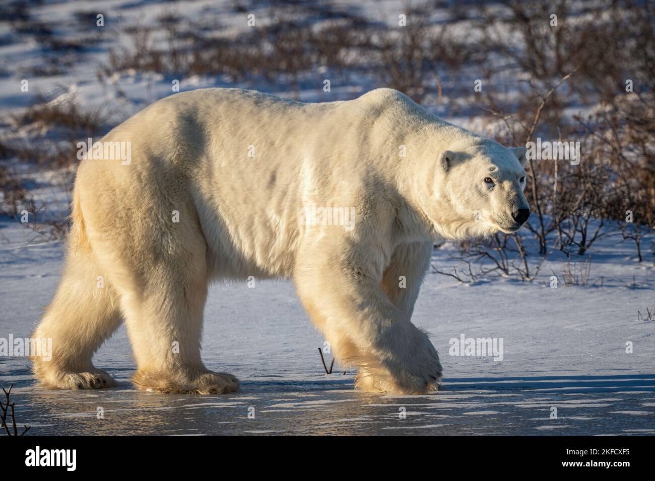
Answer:
[[[54,293],[62,245],[26,247],[28,231],[1,225],[0,337],[24,337]],[[591,277],[604,276],[602,288],[552,289],[549,268],[534,283],[466,286],[428,274],[413,321],[432,332],[441,353],[445,378],[436,395],[362,394],[353,372],[335,366],[324,374],[322,337],[289,282],[210,293],[204,359],[240,378],[234,395],[134,389],[124,329],[95,358],[121,387],[45,391],[20,357],[0,357],[0,383],[14,383],[16,414],[31,435],[655,435],[655,323],[637,321],[637,310],[653,304],[655,279],[622,249],[607,240],[592,252],[599,261]],[[447,251],[435,251],[434,262],[453,265]],[[559,261],[551,262],[557,272]],[[502,338],[504,359],[449,355],[449,340],[461,334]]]

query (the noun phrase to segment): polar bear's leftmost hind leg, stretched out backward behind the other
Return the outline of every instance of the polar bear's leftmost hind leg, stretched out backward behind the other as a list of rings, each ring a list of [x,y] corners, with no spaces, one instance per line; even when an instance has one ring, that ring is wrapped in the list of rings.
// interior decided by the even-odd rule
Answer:
[[[118,297],[88,246],[71,244],[54,299],[32,334],[42,347],[32,353],[34,374],[49,389],[111,387],[115,381],[91,357],[121,325]],[[51,352],[43,351],[44,340]]]

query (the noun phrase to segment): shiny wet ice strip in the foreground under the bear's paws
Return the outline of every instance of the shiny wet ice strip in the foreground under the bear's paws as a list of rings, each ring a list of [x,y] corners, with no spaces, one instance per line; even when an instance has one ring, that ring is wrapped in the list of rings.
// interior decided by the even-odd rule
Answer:
[[[15,400],[33,435],[655,435],[652,375],[569,372],[445,385],[436,395],[390,397],[357,393],[343,374],[271,375],[247,380],[234,395],[157,395],[126,382],[92,392],[20,389]]]

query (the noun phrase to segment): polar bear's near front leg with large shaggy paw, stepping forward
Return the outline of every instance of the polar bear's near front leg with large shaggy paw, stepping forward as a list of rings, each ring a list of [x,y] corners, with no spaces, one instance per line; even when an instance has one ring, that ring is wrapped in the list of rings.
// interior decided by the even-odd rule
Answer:
[[[374,249],[347,243],[326,247],[305,249],[309,255],[297,258],[294,281],[335,357],[359,368],[356,386],[396,394],[435,391],[441,377],[438,353],[409,321],[407,309],[384,292]],[[425,250],[417,250],[423,265]],[[413,270],[419,279],[420,271]]]

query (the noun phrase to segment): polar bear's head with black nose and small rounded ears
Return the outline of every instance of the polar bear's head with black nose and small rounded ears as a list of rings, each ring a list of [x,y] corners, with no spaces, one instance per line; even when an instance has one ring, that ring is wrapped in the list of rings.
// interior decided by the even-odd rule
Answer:
[[[525,148],[467,139],[441,152],[437,162],[428,217],[441,237],[510,234],[527,221]]]

